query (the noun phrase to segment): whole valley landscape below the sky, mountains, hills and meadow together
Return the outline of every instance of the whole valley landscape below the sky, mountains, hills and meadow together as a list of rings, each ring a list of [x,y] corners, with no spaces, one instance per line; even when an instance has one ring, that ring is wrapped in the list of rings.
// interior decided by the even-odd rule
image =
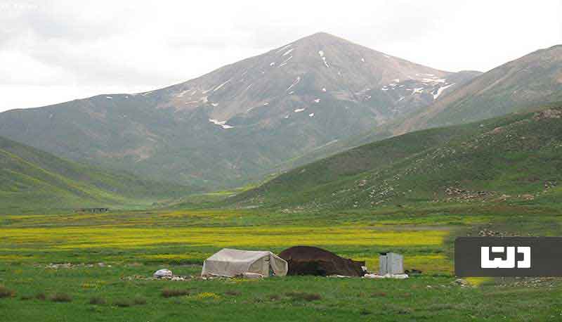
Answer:
[[[457,278],[453,243],[561,236],[561,48],[447,72],[320,32],[1,112],[0,320],[558,321],[560,278]],[[410,276],[200,276],[296,245]]]

